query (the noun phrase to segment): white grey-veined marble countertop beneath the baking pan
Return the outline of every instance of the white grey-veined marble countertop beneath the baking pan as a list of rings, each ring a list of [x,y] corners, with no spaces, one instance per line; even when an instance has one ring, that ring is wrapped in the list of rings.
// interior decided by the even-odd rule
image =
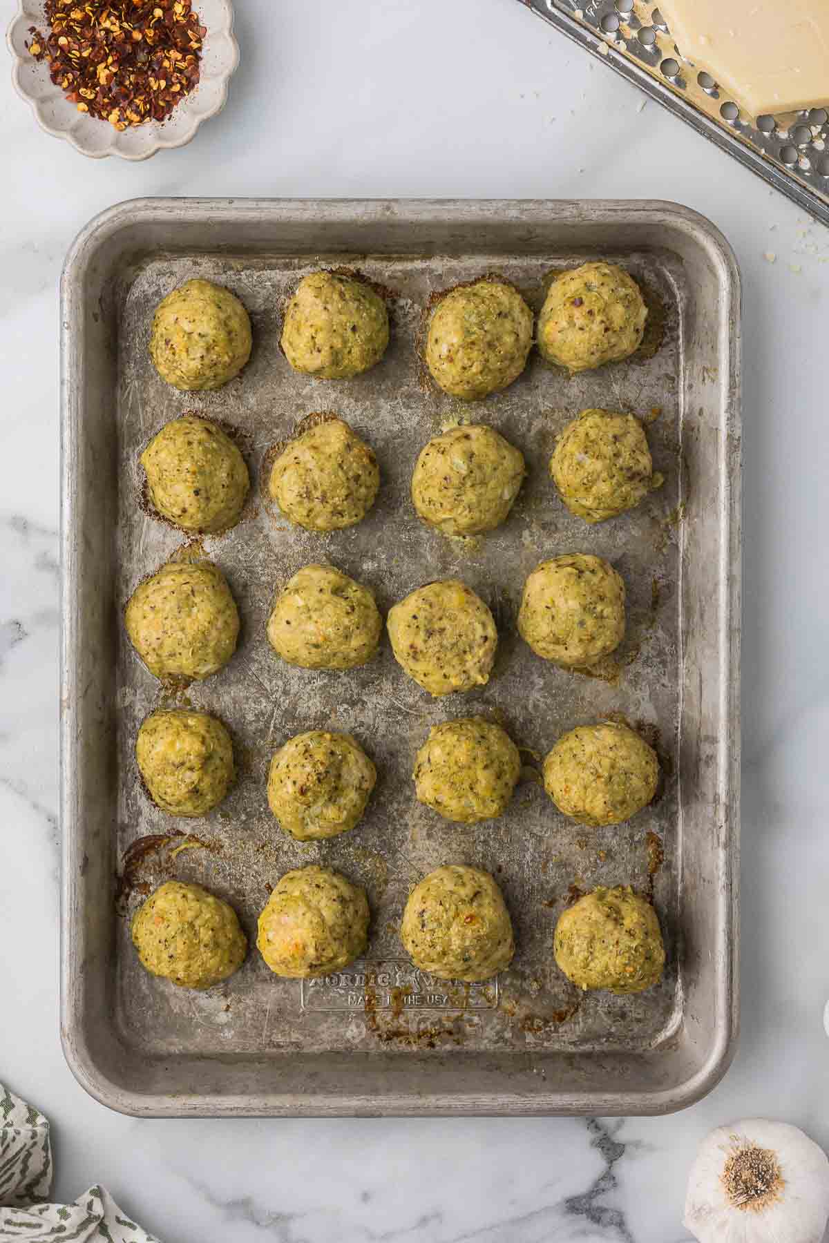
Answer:
[[[0,1078],[164,1243],[685,1238],[695,1145],[741,1115],[829,1144],[829,235],[516,0],[239,0],[224,114],[142,165],[78,157],[0,81]],[[133,1121],[57,1037],[57,280],[133,195],[656,196],[744,282],[743,1034],[696,1108],[624,1121]],[[776,261],[771,261],[772,254]]]

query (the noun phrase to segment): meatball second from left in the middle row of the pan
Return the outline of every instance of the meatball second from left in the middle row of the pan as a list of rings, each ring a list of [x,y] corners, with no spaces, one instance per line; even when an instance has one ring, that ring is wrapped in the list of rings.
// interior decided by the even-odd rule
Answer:
[[[383,619],[368,587],[333,566],[303,566],[276,598],[267,638],[301,669],[355,669],[372,659]]]

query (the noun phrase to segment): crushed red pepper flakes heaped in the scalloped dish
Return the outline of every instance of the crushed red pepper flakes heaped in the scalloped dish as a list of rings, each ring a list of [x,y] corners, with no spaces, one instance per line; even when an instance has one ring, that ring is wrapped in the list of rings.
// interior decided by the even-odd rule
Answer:
[[[29,51],[78,112],[116,129],[164,121],[199,81],[208,30],[191,0],[46,0],[45,12]]]

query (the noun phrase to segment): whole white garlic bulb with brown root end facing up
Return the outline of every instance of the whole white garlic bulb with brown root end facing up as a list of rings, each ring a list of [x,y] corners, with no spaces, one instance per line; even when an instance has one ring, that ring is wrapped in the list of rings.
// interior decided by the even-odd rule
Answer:
[[[797,1126],[754,1117],[702,1141],[684,1219],[701,1243],[820,1243],[828,1219],[829,1161]]]

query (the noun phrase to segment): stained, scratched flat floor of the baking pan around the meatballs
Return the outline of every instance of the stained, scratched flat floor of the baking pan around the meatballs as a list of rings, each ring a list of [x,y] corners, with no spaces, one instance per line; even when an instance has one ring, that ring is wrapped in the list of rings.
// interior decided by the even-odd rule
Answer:
[[[692,501],[684,444],[685,372],[690,362],[697,363],[687,352],[698,349],[697,338],[711,324],[697,310],[691,313],[694,275],[686,260],[670,246],[614,247],[621,234],[618,230],[614,237],[614,230],[607,229],[600,244],[585,247],[578,245],[578,230],[573,230],[569,245],[559,242],[529,254],[523,234],[517,234],[516,247],[474,254],[372,255],[357,247],[348,254],[342,245],[329,252],[319,246],[312,254],[308,249],[273,254],[270,247],[260,254],[240,247],[235,254],[232,246],[220,252],[209,245],[188,246],[184,252],[153,249],[119,268],[112,293],[116,348],[109,373],[116,424],[117,618],[138,580],[178,554],[214,559],[229,578],[242,618],[239,650],[230,665],[178,696],[147,672],[123,626],[117,626],[112,718],[117,832],[112,845],[119,884],[109,900],[113,941],[107,971],[119,1058],[132,1059],[133,1065],[143,1059],[157,1074],[168,1064],[210,1059],[220,1073],[222,1059],[278,1063],[282,1055],[296,1053],[323,1059],[369,1055],[370,1066],[370,1058],[382,1050],[387,1060],[392,1055],[416,1064],[423,1073],[430,1063],[445,1066],[452,1057],[512,1059],[517,1068],[527,1057],[564,1050],[646,1058],[649,1050],[681,1042],[687,1018],[682,983],[687,921],[681,885],[685,653],[680,580],[684,507]],[[431,384],[418,344],[424,308],[435,291],[498,272],[537,310],[552,273],[595,257],[599,249],[643,283],[656,326],[650,348],[573,379],[533,353],[516,384],[475,405],[459,403]],[[353,266],[389,291],[390,348],[374,370],[353,382],[297,375],[278,349],[286,296],[305,272],[327,265]],[[218,280],[234,290],[254,323],[250,364],[240,379],[214,394],[176,393],[155,375],[147,355],[154,306],[190,276]],[[579,409],[593,405],[644,416],[654,467],[666,476],[664,487],[636,511],[595,527],[567,512],[547,475],[556,434]],[[186,548],[180,532],[142,507],[137,465],[147,440],[184,410],[199,410],[237,429],[254,485],[236,528]],[[369,517],[329,536],[290,527],[261,492],[261,467],[271,446],[317,410],[342,415],[369,441],[383,480]],[[447,539],[416,518],[409,480],[423,444],[442,428],[470,419],[491,424],[516,444],[529,476],[501,528],[472,541]],[[564,552],[599,553],[626,583],[628,633],[600,677],[538,660],[516,633],[526,576],[538,561]],[[404,676],[385,636],[379,656],[348,674],[297,670],[281,663],[265,636],[267,613],[276,588],[312,561],[331,562],[372,587],[383,613],[424,582],[462,578],[490,604],[498,624],[490,684],[433,700]],[[713,589],[716,563],[711,574]],[[140,721],[170,702],[216,712],[234,737],[237,784],[219,808],[195,822],[175,820],[155,808],[134,763]],[[459,825],[416,803],[410,773],[431,725],[472,712],[501,721],[524,748],[524,779],[502,818]],[[585,829],[562,817],[544,794],[539,759],[566,730],[608,716],[630,721],[654,741],[662,783],[655,803],[626,824]],[[287,737],[319,727],[354,733],[377,763],[379,778],[355,830],[326,843],[301,844],[278,828],[267,808],[267,766]],[[686,803],[697,793],[687,787]],[[190,838],[165,840],[175,830],[189,830]],[[189,849],[178,849],[183,842]],[[236,976],[208,993],[193,993],[149,977],[138,965],[128,917],[160,880],[175,875],[226,897],[252,942],[256,915],[270,888],[283,871],[306,863],[329,864],[367,889],[373,915],[369,951],[348,971],[313,983],[278,979],[251,948]],[[467,988],[433,979],[413,971],[401,950],[398,929],[406,894],[444,863],[482,866],[503,889],[518,950],[497,982]],[[667,948],[657,987],[634,997],[580,994],[556,968],[556,920],[577,891],[597,884],[633,884],[653,895]],[[460,1075],[460,1064],[457,1070]],[[152,1111],[178,1111],[176,1095],[170,1091],[165,1101],[155,1098]],[[349,1109],[348,1095],[344,1084],[343,1103],[334,1111]],[[257,1106],[249,1101],[245,1108]],[[265,1104],[260,1108],[271,1111]],[[350,1108],[357,1106],[352,1103]],[[204,1101],[201,1109],[218,1111]]]

